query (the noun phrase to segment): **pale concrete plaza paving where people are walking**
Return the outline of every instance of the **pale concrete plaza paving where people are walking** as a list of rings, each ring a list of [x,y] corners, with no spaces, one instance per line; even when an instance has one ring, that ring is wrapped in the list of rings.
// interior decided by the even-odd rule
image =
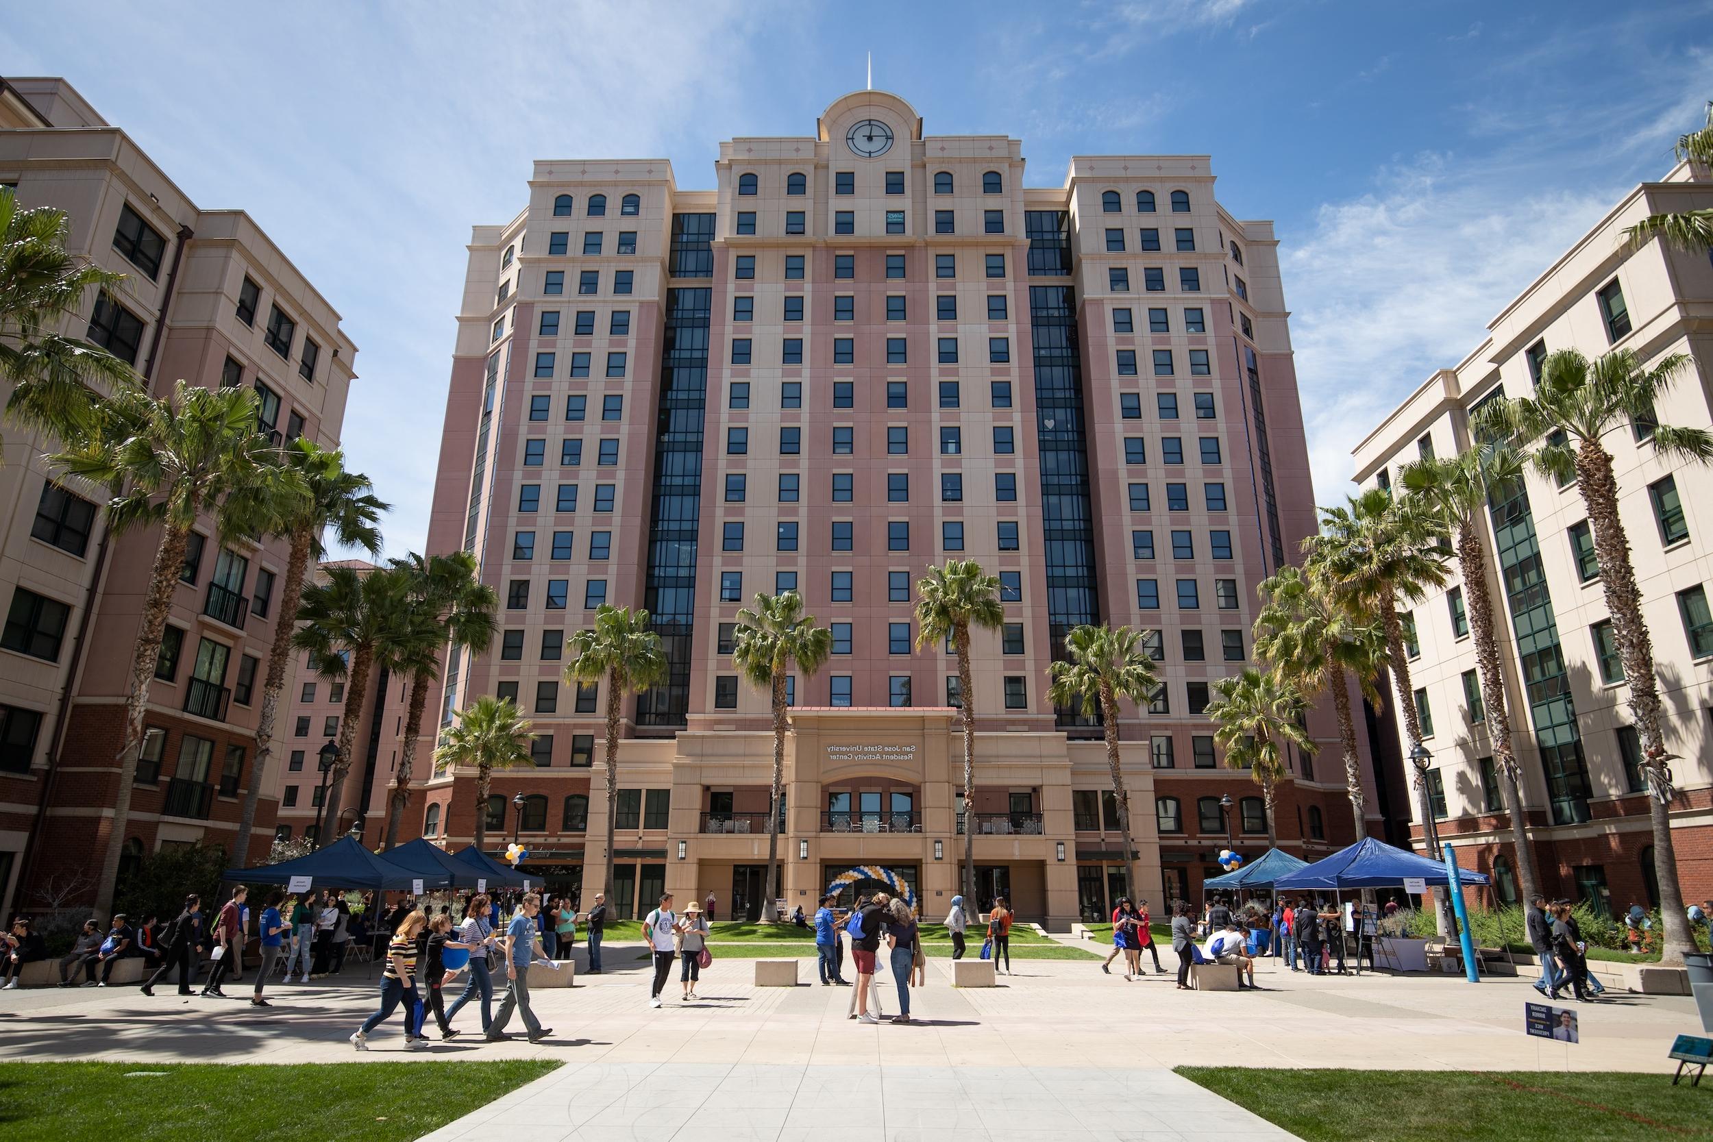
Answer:
[[[718,954],[716,954],[718,955]],[[1199,1139],[1274,1127],[1170,1074],[1184,1063],[1454,1070],[1668,1072],[1679,1032],[1699,1032],[1692,1000],[1609,993],[1581,1005],[1576,1046],[1523,1034],[1530,981],[1461,976],[1305,976],[1262,961],[1264,991],[1179,991],[1173,976],[1125,983],[1091,961],[1018,961],[992,990],[951,988],[951,962],[928,961],[911,993],[913,1026],[846,1019],[850,991],[814,983],[755,988],[754,961],[718,957],[701,1000],[648,1007],[641,945],[608,945],[606,972],[538,990],[553,1027],[464,1036],[406,1051],[394,1017],[356,1053],[346,1036],[375,1003],[373,974],[271,984],[257,1010],[248,988],[228,1000],[154,998],[135,988],[0,993],[0,1058],[135,1062],[349,1062],[423,1058],[565,1060],[565,1067],[432,1135],[475,1137],[500,1123],[555,1139],[1028,1139],[1067,1128],[1110,1139]],[[582,954],[579,950],[581,966]],[[846,967],[848,967],[846,961]],[[373,969],[368,969],[373,972]],[[798,978],[812,981],[814,961]],[[896,993],[882,976],[886,1010]],[[521,1032],[514,1020],[512,1031]],[[1120,1123],[1120,1125],[1115,1125]]]

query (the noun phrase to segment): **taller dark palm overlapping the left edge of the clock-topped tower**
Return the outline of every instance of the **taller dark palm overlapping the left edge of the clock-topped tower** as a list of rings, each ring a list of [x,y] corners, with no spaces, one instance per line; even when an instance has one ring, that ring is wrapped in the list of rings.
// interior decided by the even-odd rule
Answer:
[[[483,584],[476,556],[468,551],[432,555],[423,558],[415,551],[392,567],[409,579],[411,635],[399,647],[399,669],[411,680],[409,705],[404,711],[404,743],[399,746],[399,769],[392,779],[392,805],[387,810],[385,848],[399,841],[399,822],[409,800],[411,765],[416,760],[416,738],[423,728],[423,707],[428,688],[440,676],[440,654],[451,645],[451,654],[463,654],[493,642],[495,610],[500,598]]]

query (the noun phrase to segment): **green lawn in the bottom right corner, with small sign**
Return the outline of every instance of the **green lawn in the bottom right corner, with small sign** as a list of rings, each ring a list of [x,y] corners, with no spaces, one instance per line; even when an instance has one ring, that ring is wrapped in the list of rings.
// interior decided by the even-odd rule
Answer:
[[[1687,1080],[1674,1087],[1670,1075],[1244,1067],[1177,1074],[1309,1142],[1713,1139],[1713,1087]]]

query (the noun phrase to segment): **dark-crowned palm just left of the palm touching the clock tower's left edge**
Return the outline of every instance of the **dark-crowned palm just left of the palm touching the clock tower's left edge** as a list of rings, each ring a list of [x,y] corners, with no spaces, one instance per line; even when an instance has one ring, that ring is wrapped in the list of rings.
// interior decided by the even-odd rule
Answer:
[[[322,827],[315,848],[327,844],[337,827],[339,798],[351,770],[351,746],[363,721],[368,676],[379,666],[397,666],[411,639],[411,582],[396,568],[325,567],[325,582],[303,587],[298,630],[291,645],[310,652],[315,673],[344,680],[344,712],[339,717],[337,757],[322,803]],[[360,806],[358,813],[361,815]],[[329,827],[329,824],[332,827]]]

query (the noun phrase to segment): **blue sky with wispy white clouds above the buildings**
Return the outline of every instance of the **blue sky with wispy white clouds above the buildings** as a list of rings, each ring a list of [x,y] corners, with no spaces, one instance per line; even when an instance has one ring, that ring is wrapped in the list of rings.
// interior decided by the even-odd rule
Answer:
[[[810,134],[863,86],[930,134],[1072,154],[1211,154],[1283,243],[1319,500],[1350,447],[1713,99],[1713,0],[1629,5],[135,3],[14,5],[0,74],[65,75],[204,207],[243,207],[358,344],[349,462],[420,550],[464,243],[538,158],[671,159]]]

